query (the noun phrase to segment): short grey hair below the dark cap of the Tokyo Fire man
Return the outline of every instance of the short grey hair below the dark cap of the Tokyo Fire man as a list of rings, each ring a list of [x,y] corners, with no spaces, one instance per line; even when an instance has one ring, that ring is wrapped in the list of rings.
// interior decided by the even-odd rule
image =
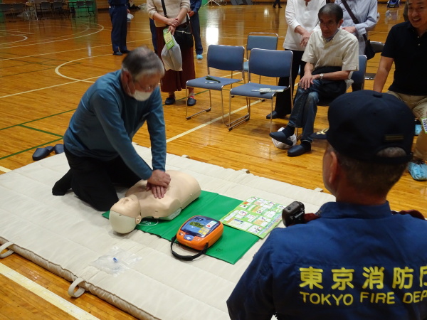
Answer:
[[[352,159],[349,156],[339,154],[331,145],[328,146],[328,151],[334,151],[337,154],[339,165],[345,172],[347,180],[354,188],[376,196],[385,196],[389,193],[391,187],[399,181],[407,166],[407,163],[377,164]],[[406,156],[406,151],[393,146],[382,149],[376,155],[394,158]]]

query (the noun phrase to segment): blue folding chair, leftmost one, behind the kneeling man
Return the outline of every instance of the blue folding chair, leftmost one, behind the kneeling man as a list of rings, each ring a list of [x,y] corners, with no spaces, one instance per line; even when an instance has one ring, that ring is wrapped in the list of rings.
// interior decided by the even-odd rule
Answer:
[[[188,80],[186,82],[186,93],[189,95],[188,87],[200,87],[209,90],[209,108],[196,112],[195,114],[188,115],[188,105],[186,104],[186,119],[191,119],[197,114],[202,112],[209,112],[212,108],[211,90],[221,91],[221,107],[222,107],[222,118],[224,121],[224,105],[223,105],[223,87],[226,85],[233,85],[233,83],[243,81],[243,60],[245,55],[245,48],[243,46],[221,46],[211,45],[208,48],[207,65],[208,75],[205,77]],[[216,77],[211,75],[211,69],[231,71],[231,78]],[[241,73],[241,78],[233,79],[233,72]],[[227,127],[230,124],[230,118],[228,118]]]

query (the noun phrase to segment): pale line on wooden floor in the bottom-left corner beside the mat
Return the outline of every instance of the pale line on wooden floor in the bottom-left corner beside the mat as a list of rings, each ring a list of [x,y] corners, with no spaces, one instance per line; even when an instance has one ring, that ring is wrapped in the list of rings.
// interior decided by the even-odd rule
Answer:
[[[3,274],[4,277],[11,279],[22,287],[28,289],[29,291],[37,294],[38,297],[45,299],[47,302],[50,302],[57,308],[65,311],[70,316],[74,316],[76,319],[98,319],[97,317],[89,314],[88,312],[80,309],[78,306],[68,302],[67,300],[59,297],[57,294],[50,292],[48,289],[41,287],[41,285],[36,284],[36,282],[31,281],[30,279],[23,277],[22,274],[12,270],[6,265],[0,263],[0,274]]]

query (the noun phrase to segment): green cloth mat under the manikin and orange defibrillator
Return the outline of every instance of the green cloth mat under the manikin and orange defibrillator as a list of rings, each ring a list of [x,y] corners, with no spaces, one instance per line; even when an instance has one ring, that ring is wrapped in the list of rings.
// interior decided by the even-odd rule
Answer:
[[[159,235],[159,237],[170,241],[176,235],[179,228],[181,228],[181,225],[192,216],[206,215],[206,217],[220,220],[241,202],[241,200],[221,196],[218,193],[201,191],[199,198],[184,208],[174,220],[144,219],[143,222],[155,221],[158,223],[156,225],[137,225],[136,229],[152,233],[153,235]],[[105,218],[109,218],[110,211],[102,215]],[[209,247],[206,255],[216,257],[234,265],[258,239],[256,235],[224,225],[223,235],[214,245]]]

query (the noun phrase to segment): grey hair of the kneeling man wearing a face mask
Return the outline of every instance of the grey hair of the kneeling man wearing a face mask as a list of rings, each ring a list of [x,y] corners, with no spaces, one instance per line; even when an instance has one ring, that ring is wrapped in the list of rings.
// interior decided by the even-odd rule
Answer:
[[[138,47],[127,53],[126,58],[122,61],[122,70],[130,73],[132,80],[139,80],[147,75],[164,76],[162,60],[146,46]]]

